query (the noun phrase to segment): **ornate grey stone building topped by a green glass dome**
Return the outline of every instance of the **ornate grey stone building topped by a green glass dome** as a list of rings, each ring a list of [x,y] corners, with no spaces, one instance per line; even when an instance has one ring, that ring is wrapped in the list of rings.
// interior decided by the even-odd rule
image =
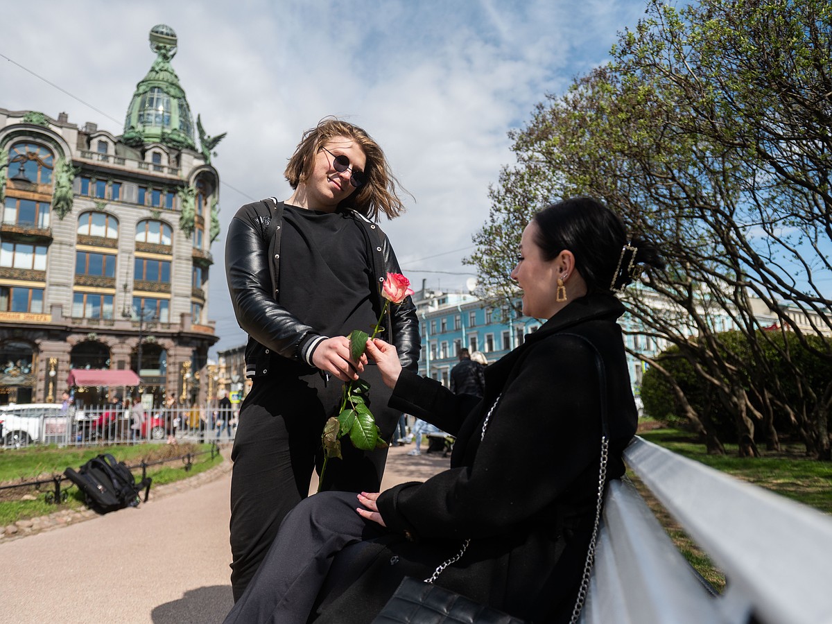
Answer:
[[[60,401],[65,389],[77,405],[209,392],[210,156],[222,136],[197,119],[197,147],[171,67],[176,33],[161,24],[150,40],[156,60],[120,136],[0,108],[0,404]]]

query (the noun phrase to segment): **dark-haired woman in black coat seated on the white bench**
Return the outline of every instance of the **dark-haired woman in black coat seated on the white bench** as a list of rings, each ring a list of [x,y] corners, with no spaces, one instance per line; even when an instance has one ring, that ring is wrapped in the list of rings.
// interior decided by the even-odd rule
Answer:
[[[523,314],[547,321],[488,367],[481,401],[403,369],[394,345],[369,342],[390,404],[456,436],[451,467],[357,500],[301,503],[226,622],[370,622],[403,577],[430,577],[448,561],[436,585],[526,622],[569,622],[597,514],[604,404],[607,479],[624,473],[636,432],[613,292],[661,265],[607,207],[562,201],[527,225],[512,271]]]

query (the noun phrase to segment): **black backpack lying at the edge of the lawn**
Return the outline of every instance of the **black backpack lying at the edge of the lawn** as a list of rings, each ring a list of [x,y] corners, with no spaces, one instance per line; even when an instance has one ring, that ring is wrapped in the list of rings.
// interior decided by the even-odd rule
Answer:
[[[136,483],[136,478],[124,462],[110,453],[90,459],[77,471],[67,468],[67,478],[84,493],[87,506],[97,513],[108,513],[139,504],[139,493],[145,490],[145,502],[151,491],[150,477]]]

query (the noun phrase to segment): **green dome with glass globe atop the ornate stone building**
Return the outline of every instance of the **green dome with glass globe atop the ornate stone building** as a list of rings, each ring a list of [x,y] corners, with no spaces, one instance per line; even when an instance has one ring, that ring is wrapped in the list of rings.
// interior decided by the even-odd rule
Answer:
[[[196,149],[191,106],[171,67],[171,58],[176,55],[176,32],[166,24],[157,24],[151,28],[150,42],[156,61],[136,85],[121,139],[135,147],[160,142],[177,149]]]

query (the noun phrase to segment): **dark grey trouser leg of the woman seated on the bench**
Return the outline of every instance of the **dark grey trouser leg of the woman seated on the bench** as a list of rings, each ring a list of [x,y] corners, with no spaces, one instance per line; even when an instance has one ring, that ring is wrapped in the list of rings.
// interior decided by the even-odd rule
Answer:
[[[385,532],[358,507],[354,493],[342,492],[315,494],[295,507],[225,624],[306,624],[334,556]]]

